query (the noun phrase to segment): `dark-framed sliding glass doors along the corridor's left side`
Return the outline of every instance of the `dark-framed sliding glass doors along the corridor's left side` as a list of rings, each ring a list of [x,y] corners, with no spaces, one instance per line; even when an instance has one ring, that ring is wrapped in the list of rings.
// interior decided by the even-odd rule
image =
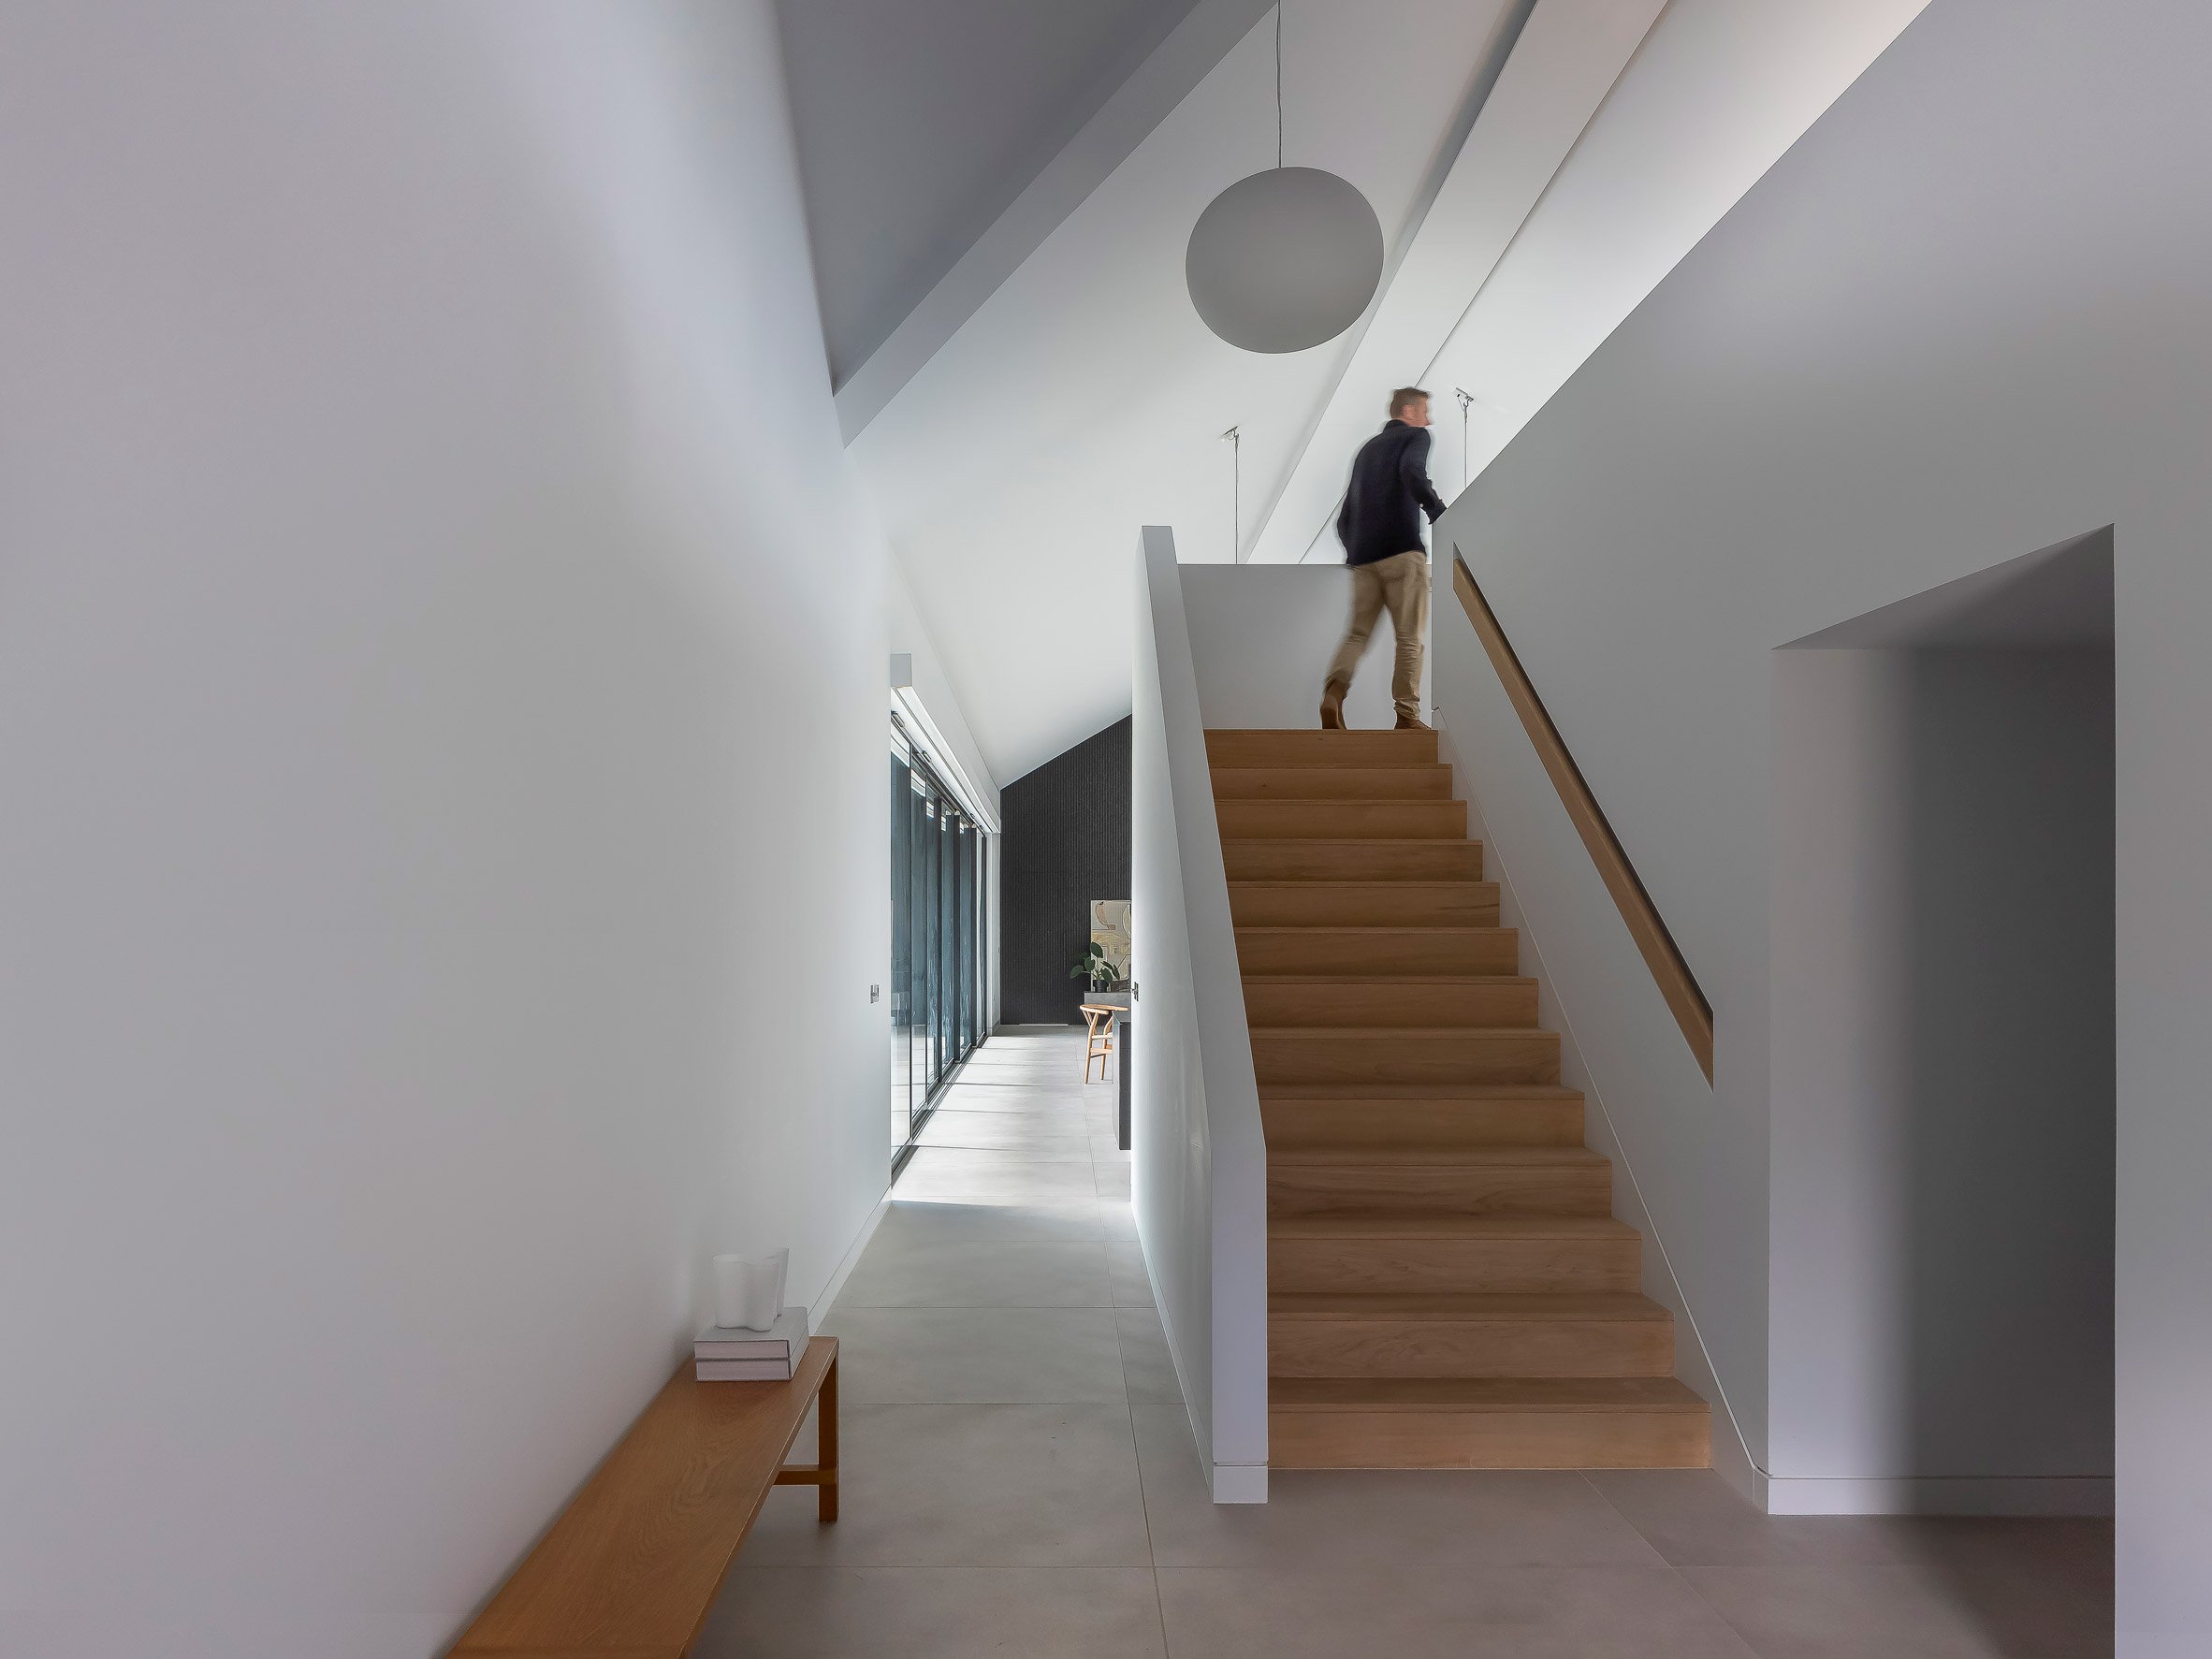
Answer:
[[[982,1029],[982,830],[891,721],[891,1148]]]

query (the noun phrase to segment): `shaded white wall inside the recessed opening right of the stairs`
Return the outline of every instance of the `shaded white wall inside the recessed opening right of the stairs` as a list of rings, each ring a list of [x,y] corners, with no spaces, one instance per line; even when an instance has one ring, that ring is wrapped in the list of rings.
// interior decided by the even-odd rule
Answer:
[[[2112,653],[1778,650],[1774,737],[1792,1506],[2108,1511]]]

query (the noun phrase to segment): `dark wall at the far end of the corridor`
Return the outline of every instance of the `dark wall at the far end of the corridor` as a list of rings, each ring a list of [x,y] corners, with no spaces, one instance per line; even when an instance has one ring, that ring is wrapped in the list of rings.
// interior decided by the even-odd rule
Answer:
[[[998,799],[1006,830],[1000,896],[1000,1020],[1079,1024],[1093,898],[1128,898],[1128,737],[1117,721]]]

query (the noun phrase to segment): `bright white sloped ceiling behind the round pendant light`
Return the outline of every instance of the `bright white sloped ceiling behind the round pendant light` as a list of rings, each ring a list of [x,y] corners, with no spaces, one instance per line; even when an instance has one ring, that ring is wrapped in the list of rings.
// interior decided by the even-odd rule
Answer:
[[[909,9],[940,4],[969,0]],[[1128,712],[1141,524],[1183,560],[1338,557],[1349,445],[1425,376],[1458,493],[1922,4],[1290,0],[1285,159],[1360,186],[1394,250],[1369,319],[1292,356],[1223,345],[1183,292],[1197,215],[1274,164],[1274,18],[1239,18],[852,440],[993,776]]]

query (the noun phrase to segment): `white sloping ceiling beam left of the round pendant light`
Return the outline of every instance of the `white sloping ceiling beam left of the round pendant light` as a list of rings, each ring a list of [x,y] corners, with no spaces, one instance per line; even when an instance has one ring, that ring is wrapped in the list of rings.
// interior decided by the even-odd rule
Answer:
[[[1212,73],[1272,0],[1199,0],[1144,64],[1013,199],[922,303],[836,389],[852,445],[1022,261]]]

